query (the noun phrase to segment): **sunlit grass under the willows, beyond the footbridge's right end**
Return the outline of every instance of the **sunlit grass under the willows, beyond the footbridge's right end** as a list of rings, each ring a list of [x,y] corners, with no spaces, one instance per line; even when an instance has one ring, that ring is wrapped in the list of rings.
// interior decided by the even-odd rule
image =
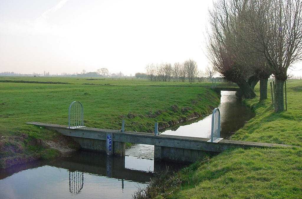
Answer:
[[[302,146],[302,81],[287,82],[288,111],[275,113],[271,99],[258,103],[258,98],[245,103],[255,110],[256,117],[237,131],[233,140],[267,142]],[[256,89],[259,93],[259,89]],[[268,97],[271,97],[268,90]]]

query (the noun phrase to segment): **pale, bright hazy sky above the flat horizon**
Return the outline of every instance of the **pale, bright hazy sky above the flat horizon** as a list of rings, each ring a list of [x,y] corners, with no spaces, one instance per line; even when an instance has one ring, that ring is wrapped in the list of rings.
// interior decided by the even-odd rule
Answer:
[[[0,0],[0,72],[134,75],[204,55],[212,0]],[[296,64],[295,75],[302,75]]]

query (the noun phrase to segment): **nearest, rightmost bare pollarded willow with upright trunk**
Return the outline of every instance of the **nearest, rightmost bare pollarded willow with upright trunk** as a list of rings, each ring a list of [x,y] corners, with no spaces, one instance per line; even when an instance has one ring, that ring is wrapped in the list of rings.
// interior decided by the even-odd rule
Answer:
[[[252,47],[265,57],[275,76],[275,111],[284,111],[284,82],[288,68],[302,59],[302,0],[245,1],[249,14],[248,34],[255,38]]]

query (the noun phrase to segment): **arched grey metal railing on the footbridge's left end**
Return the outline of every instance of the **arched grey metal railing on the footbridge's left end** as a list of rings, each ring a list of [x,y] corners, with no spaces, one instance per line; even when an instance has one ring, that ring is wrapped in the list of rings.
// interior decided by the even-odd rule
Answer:
[[[84,127],[84,108],[81,102],[73,101],[68,109],[68,128]]]

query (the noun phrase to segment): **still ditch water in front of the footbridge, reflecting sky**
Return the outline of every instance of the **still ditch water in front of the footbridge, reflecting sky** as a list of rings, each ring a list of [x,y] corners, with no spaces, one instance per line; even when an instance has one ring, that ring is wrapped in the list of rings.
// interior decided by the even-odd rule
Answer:
[[[138,187],[150,181],[154,171],[184,166],[173,165],[81,151],[67,158],[0,170],[0,198],[132,198]]]

